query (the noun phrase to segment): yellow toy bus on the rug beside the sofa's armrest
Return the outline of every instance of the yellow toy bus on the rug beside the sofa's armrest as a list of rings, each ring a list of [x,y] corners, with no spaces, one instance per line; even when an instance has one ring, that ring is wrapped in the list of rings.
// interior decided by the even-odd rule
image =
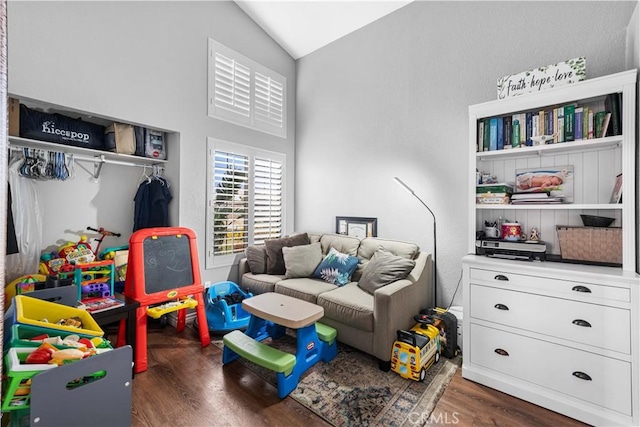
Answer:
[[[427,369],[440,360],[440,330],[433,325],[415,330],[398,330],[391,350],[391,370],[403,378],[424,381]]]

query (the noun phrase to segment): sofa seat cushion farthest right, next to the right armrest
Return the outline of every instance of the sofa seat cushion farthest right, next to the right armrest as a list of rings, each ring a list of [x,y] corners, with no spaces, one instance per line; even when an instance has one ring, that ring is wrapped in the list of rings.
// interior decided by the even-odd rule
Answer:
[[[316,304],[324,308],[325,317],[363,331],[373,331],[373,295],[360,289],[355,282],[321,293]]]

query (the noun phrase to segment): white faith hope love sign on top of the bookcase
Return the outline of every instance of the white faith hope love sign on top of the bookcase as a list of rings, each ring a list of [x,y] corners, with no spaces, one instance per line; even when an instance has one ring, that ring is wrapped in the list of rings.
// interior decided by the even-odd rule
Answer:
[[[498,79],[498,99],[579,82],[584,80],[586,75],[587,66],[584,57],[511,74]]]

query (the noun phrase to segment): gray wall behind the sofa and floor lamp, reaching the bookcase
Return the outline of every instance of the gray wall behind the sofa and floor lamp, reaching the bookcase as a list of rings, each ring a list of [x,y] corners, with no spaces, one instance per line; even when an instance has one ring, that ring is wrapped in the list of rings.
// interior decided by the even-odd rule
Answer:
[[[587,78],[625,70],[635,6],[418,1],[298,60],[296,229],[377,217],[379,236],[431,251],[431,217],[398,176],[437,217],[448,305],[471,232],[468,106],[496,99],[498,77],[578,56]]]

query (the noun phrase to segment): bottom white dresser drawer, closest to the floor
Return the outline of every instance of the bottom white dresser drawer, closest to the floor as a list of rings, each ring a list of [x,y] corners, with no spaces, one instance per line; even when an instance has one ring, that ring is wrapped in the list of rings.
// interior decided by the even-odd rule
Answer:
[[[471,365],[631,415],[630,363],[473,323],[469,333]]]

